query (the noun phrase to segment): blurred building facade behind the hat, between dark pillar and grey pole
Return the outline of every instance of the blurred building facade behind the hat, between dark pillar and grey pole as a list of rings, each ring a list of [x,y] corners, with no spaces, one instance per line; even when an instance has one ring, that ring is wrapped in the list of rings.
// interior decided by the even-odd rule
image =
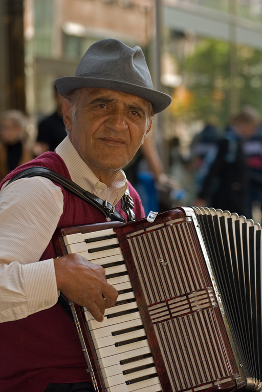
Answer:
[[[147,50],[150,0],[25,0],[25,5],[28,111],[38,117],[52,111],[55,78],[74,75],[96,40],[117,38]]]

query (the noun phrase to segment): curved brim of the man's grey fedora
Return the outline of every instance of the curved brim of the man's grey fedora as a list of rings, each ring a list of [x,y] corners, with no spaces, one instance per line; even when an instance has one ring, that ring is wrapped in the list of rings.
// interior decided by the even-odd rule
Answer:
[[[172,101],[172,98],[169,95],[160,91],[119,80],[108,80],[84,76],[64,76],[57,78],[55,84],[58,92],[64,98],[67,97],[73,90],[86,87],[116,90],[137,95],[138,97],[147,99],[151,102],[152,108],[156,114],[166,109]]]

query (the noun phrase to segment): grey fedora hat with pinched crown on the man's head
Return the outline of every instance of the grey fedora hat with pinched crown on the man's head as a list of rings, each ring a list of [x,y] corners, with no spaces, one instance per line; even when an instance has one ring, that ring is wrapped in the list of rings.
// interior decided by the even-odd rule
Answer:
[[[73,90],[97,87],[123,91],[151,102],[155,113],[167,108],[172,98],[154,90],[142,49],[130,48],[117,39],[101,39],[85,52],[75,76],[59,77],[57,90],[67,97]]]

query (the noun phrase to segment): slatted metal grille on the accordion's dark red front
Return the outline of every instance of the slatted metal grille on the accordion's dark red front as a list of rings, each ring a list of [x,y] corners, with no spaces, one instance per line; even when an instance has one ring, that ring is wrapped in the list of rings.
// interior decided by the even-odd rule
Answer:
[[[172,390],[228,380],[237,370],[230,363],[221,312],[192,222],[140,231],[127,241]]]

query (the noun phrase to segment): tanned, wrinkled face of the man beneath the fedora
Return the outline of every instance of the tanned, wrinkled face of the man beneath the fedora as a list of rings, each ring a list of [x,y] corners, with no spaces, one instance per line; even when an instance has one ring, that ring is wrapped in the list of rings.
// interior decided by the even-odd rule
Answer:
[[[150,130],[150,104],[136,95],[85,88],[77,101],[75,121],[70,107],[65,99],[63,114],[71,142],[103,182],[133,158]]]

